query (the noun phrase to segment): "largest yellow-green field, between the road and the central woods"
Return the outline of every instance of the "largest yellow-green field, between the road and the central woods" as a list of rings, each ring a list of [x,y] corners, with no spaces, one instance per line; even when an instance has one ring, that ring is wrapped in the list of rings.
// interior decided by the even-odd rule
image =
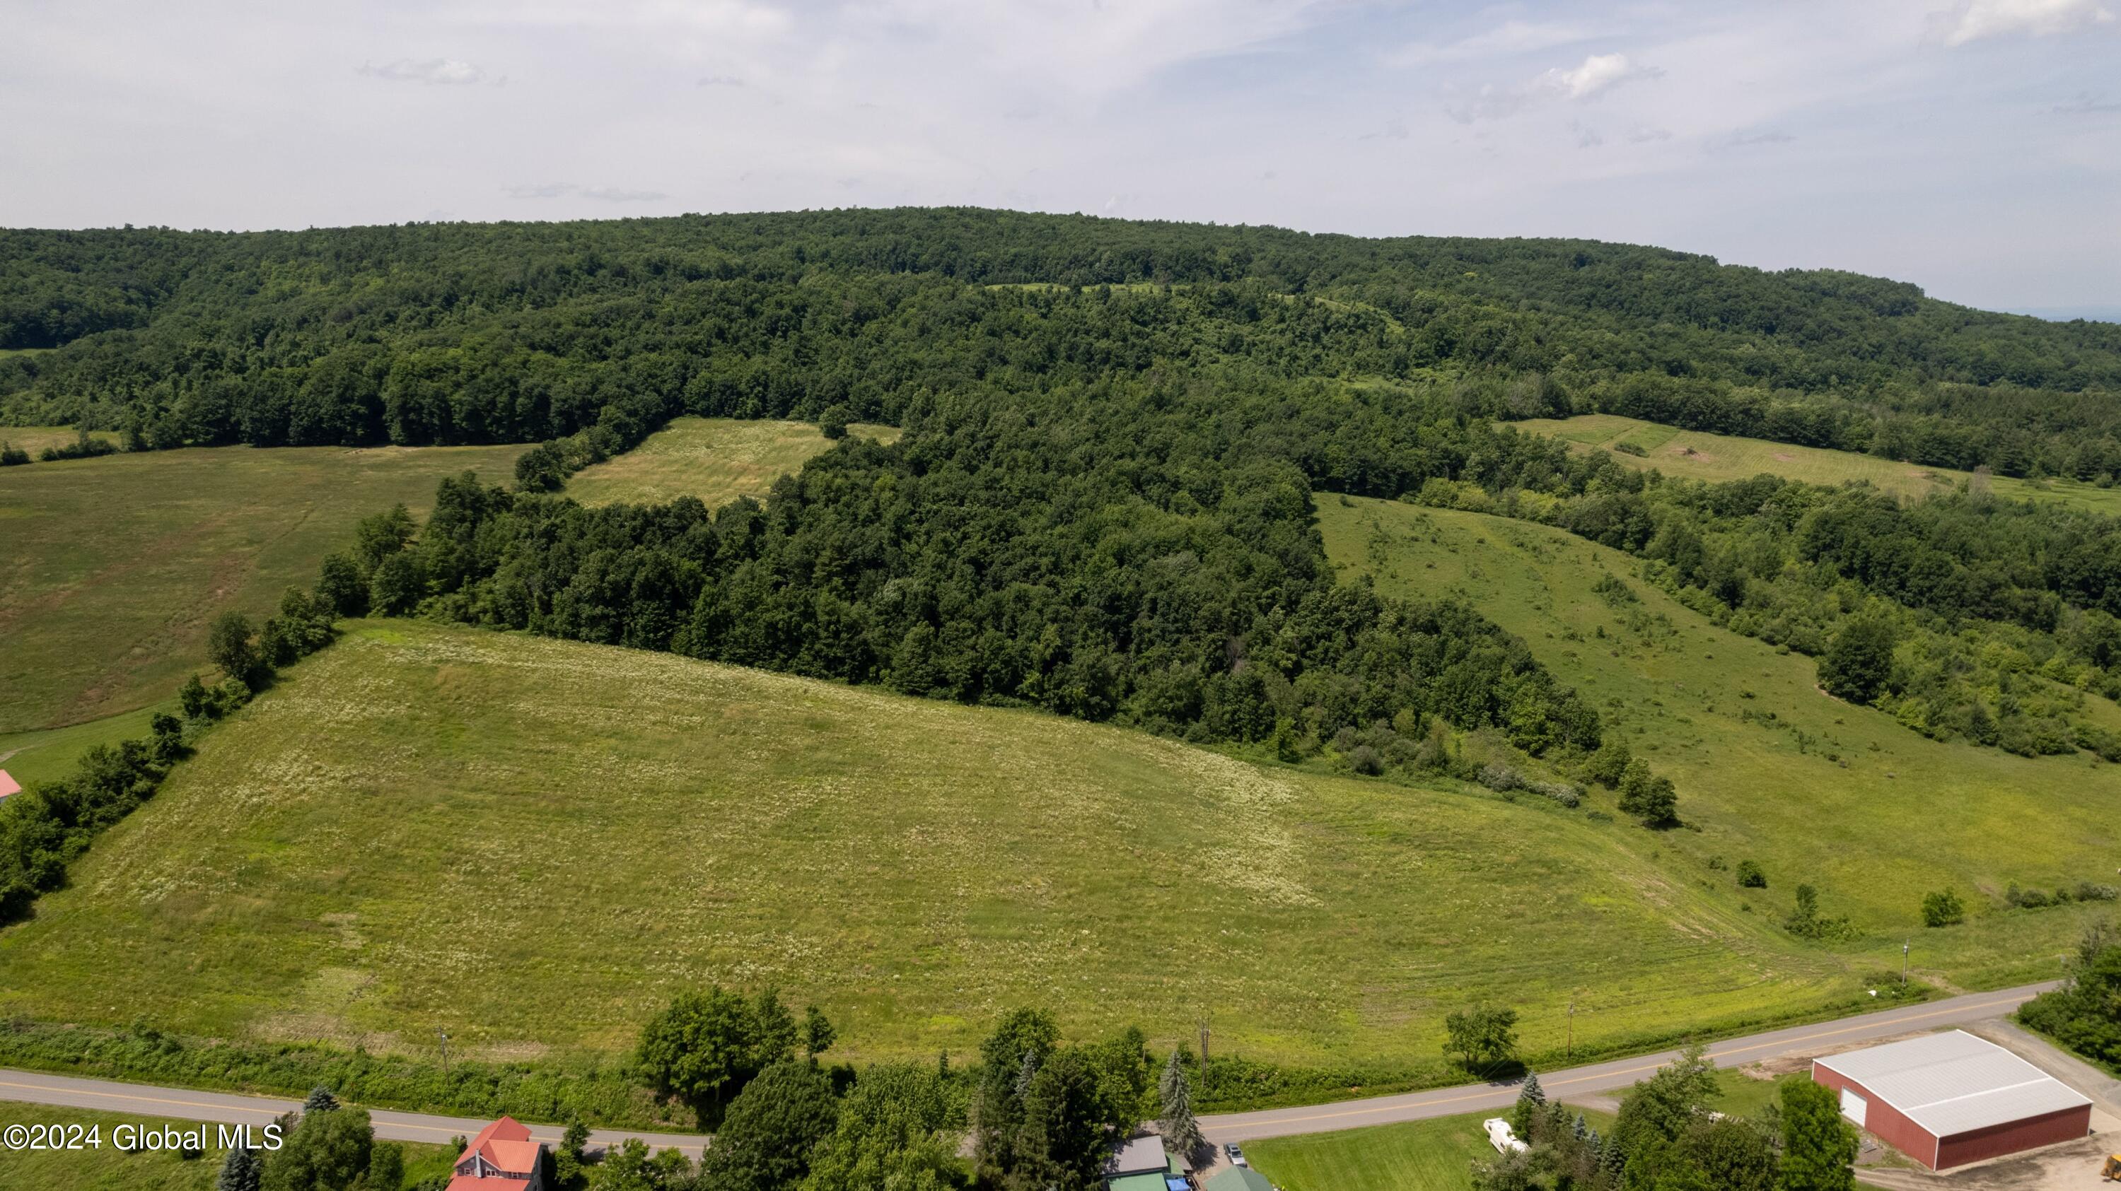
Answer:
[[[0,1015],[617,1053],[723,981],[821,1005],[848,1060],[1044,1005],[1073,1036],[1205,1015],[1224,1053],[1436,1064],[1480,998],[1540,1053],[1578,996],[1582,1053],[1858,996],[1659,852],[1476,788],[356,621],[0,930]]]

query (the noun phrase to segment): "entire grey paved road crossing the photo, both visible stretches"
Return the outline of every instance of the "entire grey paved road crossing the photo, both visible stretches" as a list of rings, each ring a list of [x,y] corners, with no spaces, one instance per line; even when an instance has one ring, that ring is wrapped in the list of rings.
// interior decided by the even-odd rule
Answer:
[[[1864,1013],[1841,1021],[1818,1026],[1792,1026],[1748,1038],[1731,1038],[1710,1047],[1710,1057],[1718,1066],[1739,1066],[1758,1060],[1816,1053],[1828,1047],[1886,1038],[1913,1030],[1934,1030],[1941,1026],[1964,1026],[2002,1017],[2032,1000],[2034,994],[2055,988],[2030,983],[2002,992],[1977,992],[1951,1000],[1932,1000],[1886,1013]],[[1584,1096],[1627,1087],[1652,1070],[1665,1066],[1678,1051],[1661,1051],[1633,1060],[1578,1066],[1542,1072],[1540,1083],[1550,1096]],[[140,1117],[176,1117],[182,1121],[227,1121],[263,1125],[295,1108],[295,1100],[271,1100],[263,1096],[231,1096],[225,1091],[191,1091],[182,1087],[146,1087],[138,1083],[112,1083],[104,1079],[74,1079],[68,1074],[38,1074],[28,1070],[0,1068],[0,1100],[25,1100],[32,1104],[57,1104],[64,1108],[104,1108],[108,1113],[136,1113]],[[1321,1134],[1328,1130],[1351,1130],[1355,1125],[1383,1125],[1389,1121],[1419,1121],[1425,1117],[1451,1117],[1457,1113],[1478,1113],[1485,1108],[1506,1108],[1517,1100],[1514,1083],[1474,1083],[1466,1087],[1438,1087],[1434,1091],[1408,1091],[1404,1096],[1377,1096],[1370,1100],[1347,1100],[1340,1104],[1317,1104],[1311,1108],[1270,1108],[1264,1113],[1226,1113],[1200,1117],[1200,1132],[1211,1142],[1243,1142],[1254,1138],[1281,1138],[1290,1134]],[[399,1142],[439,1142],[452,1136],[471,1136],[486,1127],[486,1121],[471,1117],[431,1117],[426,1113],[395,1113],[371,1108],[375,1136]],[[0,1113],[4,1119],[4,1113]],[[558,1125],[530,1125],[530,1136],[541,1142],[558,1142]],[[596,1130],[590,1144],[615,1144],[626,1138],[641,1138],[651,1149],[674,1146],[691,1157],[700,1157],[706,1138],[700,1134],[643,1134],[632,1130]]]

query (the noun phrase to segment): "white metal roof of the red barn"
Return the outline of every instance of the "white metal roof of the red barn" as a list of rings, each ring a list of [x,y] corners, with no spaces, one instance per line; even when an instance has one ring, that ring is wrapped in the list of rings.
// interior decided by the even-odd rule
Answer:
[[[1964,1030],[1816,1060],[1936,1138],[2091,1104],[2055,1077]]]

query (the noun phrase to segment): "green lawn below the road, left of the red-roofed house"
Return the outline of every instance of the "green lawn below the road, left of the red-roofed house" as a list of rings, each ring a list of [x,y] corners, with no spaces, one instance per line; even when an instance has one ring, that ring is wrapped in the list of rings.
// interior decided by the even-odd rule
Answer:
[[[100,1130],[102,1144],[74,1151],[11,1151],[0,1149],[0,1187],[19,1191],[212,1191],[227,1151],[206,1146],[199,1157],[174,1151],[125,1153],[112,1140],[119,1125],[195,1130],[197,1121],[165,1121],[89,1108],[47,1108],[0,1100],[0,1125],[83,1125]],[[206,1125],[214,1140],[214,1125]],[[456,1153],[422,1142],[392,1142],[405,1151],[405,1185],[448,1174]]]

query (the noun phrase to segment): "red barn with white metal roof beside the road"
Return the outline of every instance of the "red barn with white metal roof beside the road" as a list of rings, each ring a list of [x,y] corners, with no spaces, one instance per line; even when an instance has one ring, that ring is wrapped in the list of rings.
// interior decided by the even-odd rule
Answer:
[[[1964,1030],[1811,1062],[1841,1115],[1930,1170],[2002,1157],[2091,1132],[2091,1100]]]

